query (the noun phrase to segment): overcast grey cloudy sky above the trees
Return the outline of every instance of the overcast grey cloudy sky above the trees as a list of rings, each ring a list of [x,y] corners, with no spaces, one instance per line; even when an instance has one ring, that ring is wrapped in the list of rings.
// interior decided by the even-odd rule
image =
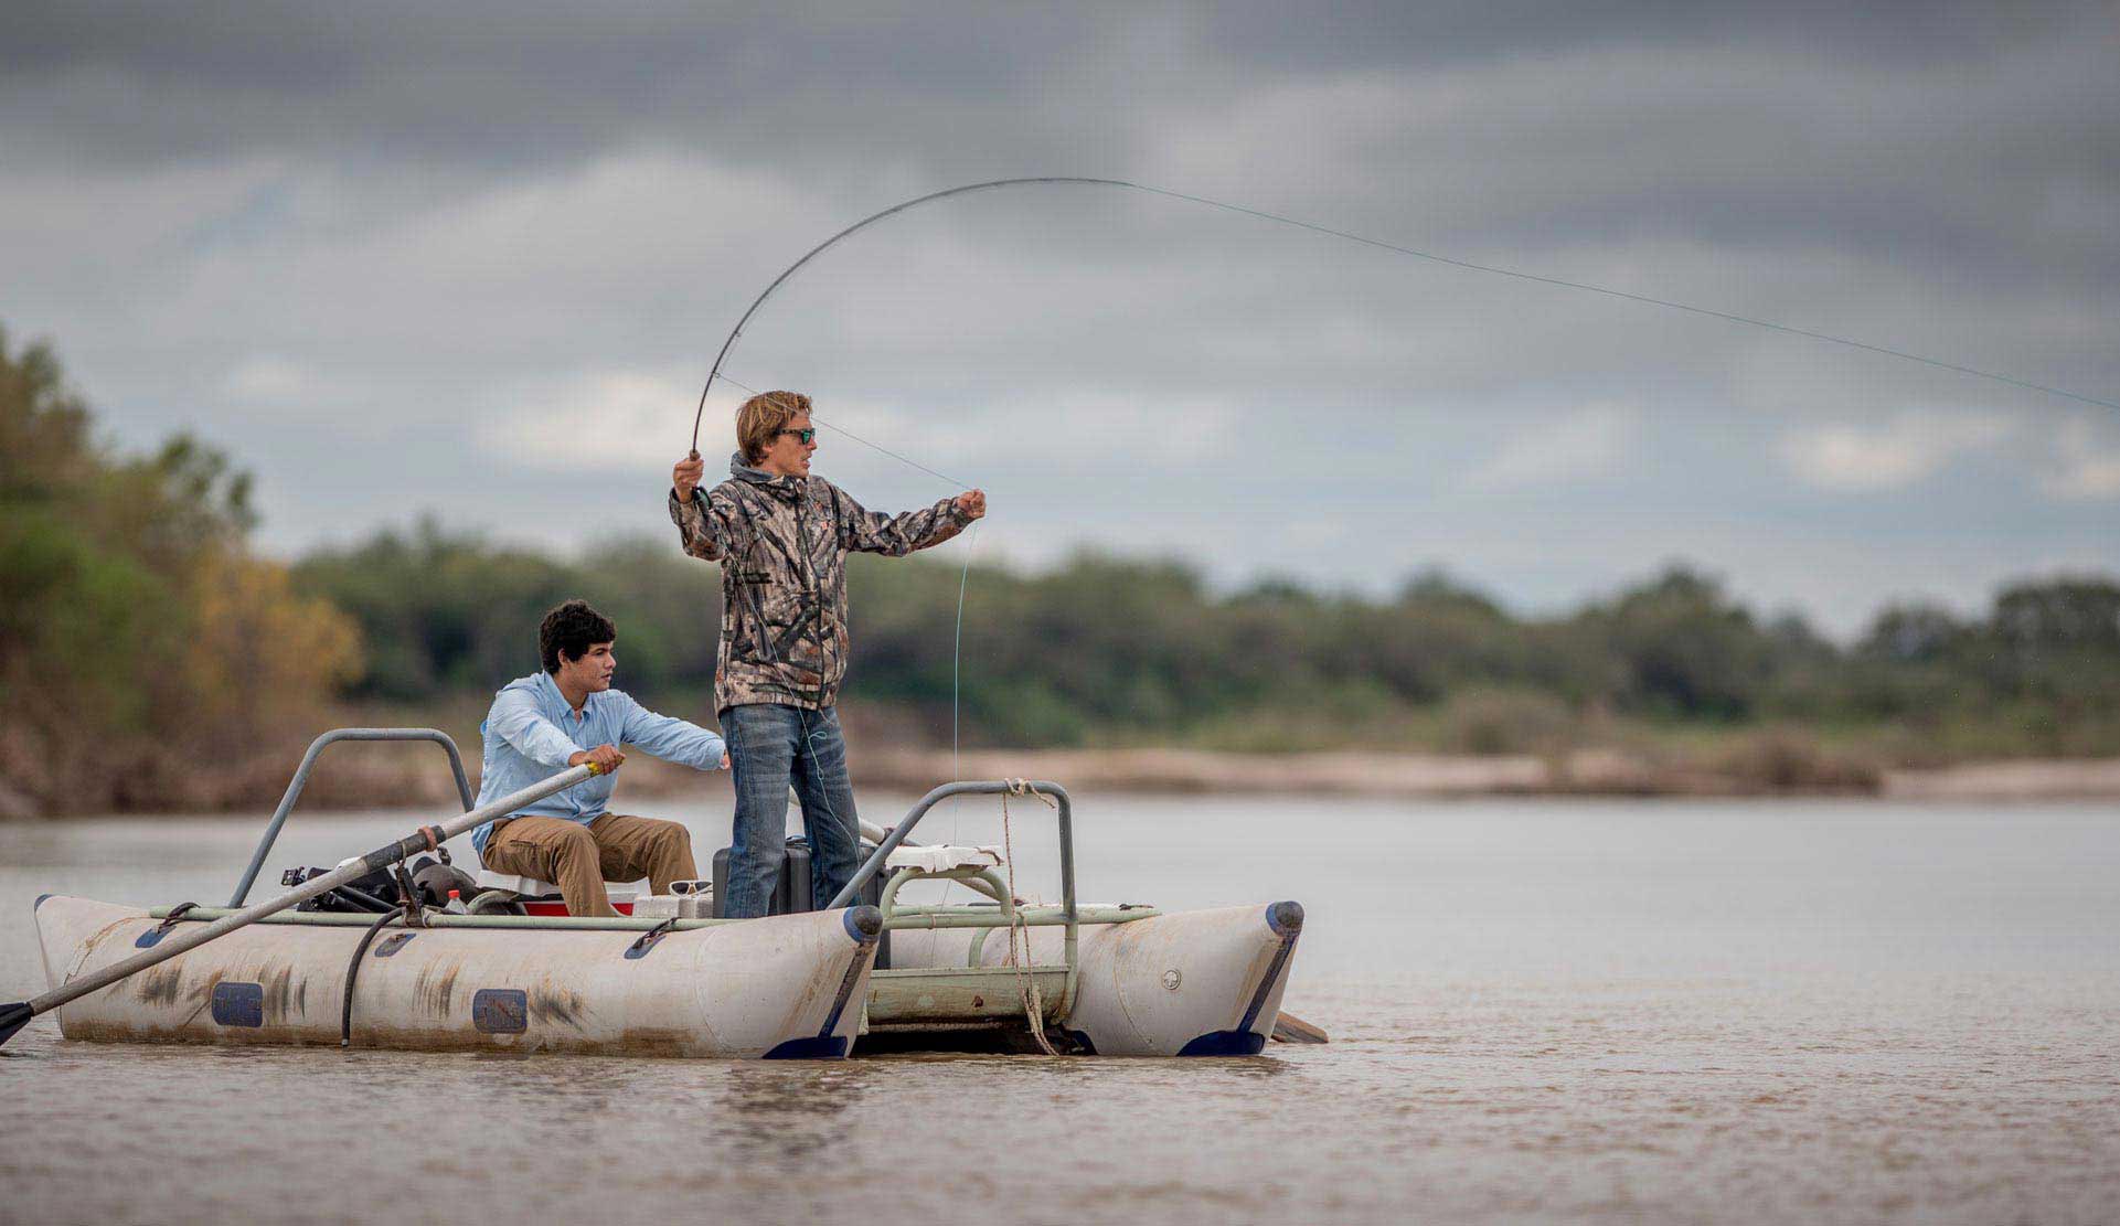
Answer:
[[[1022,174],[2114,401],[2116,64],[2109,0],[11,4],[0,322],[117,441],[254,469],[284,556],[422,511],[668,535],[744,305]],[[727,371],[984,486],[977,549],[1028,566],[1446,566],[1548,611],[1683,558],[1836,632],[2120,573],[2120,411],[1115,189],[882,223]],[[869,507],[952,492],[823,441]]]

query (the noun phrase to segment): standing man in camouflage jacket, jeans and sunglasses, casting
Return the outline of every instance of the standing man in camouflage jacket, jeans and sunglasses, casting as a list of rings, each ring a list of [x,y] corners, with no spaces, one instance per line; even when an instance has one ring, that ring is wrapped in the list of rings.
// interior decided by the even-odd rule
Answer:
[[[810,397],[761,392],[736,411],[729,479],[700,488],[697,452],[670,471],[670,520],[685,551],[721,562],[721,649],[714,711],[736,772],[729,897],[721,914],[767,910],[780,876],[793,783],[810,838],[810,897],[854,876],[861,855],[854,789],[840,734],[846,677],[846,554],[903,558],[956,537],[986,515],[971,490],[924,511],[865,511],[810,475],[816,426]]]

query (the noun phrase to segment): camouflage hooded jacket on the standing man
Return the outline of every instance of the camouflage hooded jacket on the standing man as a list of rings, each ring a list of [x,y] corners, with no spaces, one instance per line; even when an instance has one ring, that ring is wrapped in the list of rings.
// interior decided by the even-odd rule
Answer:
[[[903,558],[956,537],[950,498],[884,515],[823,477],[782,477],[729,456],[729,479],[693,490],[670,520],[693,558],[721,562],[714,711],[746,702],[820,711],[846,677],[846,554]]]

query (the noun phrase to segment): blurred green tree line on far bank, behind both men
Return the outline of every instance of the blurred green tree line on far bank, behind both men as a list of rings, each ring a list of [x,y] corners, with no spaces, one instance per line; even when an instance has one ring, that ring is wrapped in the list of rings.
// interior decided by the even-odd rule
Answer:
[[[948,560],[852,560],[850,702],[946,728],[958,581]],[[424,522],[312,554],[295,585],[360,624],[360,698],[490,691],[534,668],[532,626],[568,596],[617,619],[630,689],[697,711],[714,679],[719,581],[674,537],[568,562]],[[2120,585],[2101,577],[2010,585],[1984,617],[1891,607],[1851,645],[1683,566],[1560,617],[1516,617],[1439,573],[1386,600],[1278,581],[1217,594],[1183,564],[1100,554],[975,566],[965,592],[967,742],[1393,745],[1452,711],[1442,747],[1463,751],[1537,749],[1586,719],[2120,749]]]

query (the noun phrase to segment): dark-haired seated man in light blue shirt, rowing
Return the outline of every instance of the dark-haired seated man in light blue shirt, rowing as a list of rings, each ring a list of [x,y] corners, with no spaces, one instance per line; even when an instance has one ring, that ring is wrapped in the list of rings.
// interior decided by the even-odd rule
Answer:
[[[509,681],[479,725],[485,736],[479,804],[522,791],[568,766],[598,766],[600,774],[587,783],[471,834],[485,868],[555,882],[566,895],[566,910],[579,916],[619,914],[604,893],[606,878],[644,876],[655,893],[670,893],[670,882],[700,876],[691,859],[691,834],[683,825],[604,812],[613,789],[611,772],[625,761],[619,745],[697,770],[729,768],[729,753],[719,736],[683,719],[655,715],[623,689],[611,687],[619,664],[611,653],[617,636],[611,619],[585,600],[560,605],[536,632],[545,670]]]

